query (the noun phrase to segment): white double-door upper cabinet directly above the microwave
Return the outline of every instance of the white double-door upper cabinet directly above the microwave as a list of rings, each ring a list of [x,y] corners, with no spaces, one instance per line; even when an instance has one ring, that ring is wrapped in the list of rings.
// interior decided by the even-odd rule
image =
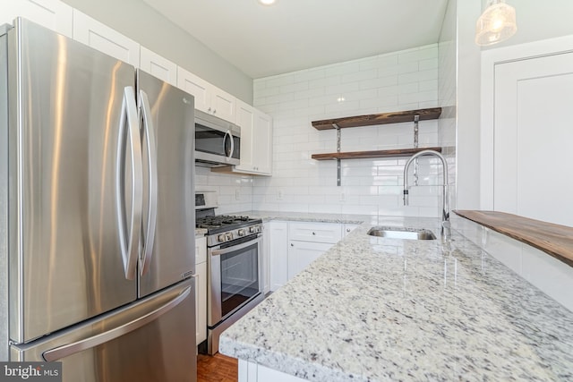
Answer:
[[[227,92],[181,67],[177,67],[177,87],[195,97],[196,109],[236,123],[236,98]]]

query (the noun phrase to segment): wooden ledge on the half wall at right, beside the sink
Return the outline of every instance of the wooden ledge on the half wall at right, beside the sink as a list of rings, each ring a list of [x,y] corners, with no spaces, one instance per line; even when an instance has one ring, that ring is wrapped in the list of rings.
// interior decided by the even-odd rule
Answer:
[[[493,231],[525,242],[573,267],[573,228],[541,220],[496,211],[455,210],[465,217]]]

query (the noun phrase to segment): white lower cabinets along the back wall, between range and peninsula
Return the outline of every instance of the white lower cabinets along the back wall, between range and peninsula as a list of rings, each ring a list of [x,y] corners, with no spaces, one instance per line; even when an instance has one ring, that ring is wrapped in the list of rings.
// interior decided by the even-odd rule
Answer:
[[[342,239],[342,225],[269,222],[270,290],[276,291]]]

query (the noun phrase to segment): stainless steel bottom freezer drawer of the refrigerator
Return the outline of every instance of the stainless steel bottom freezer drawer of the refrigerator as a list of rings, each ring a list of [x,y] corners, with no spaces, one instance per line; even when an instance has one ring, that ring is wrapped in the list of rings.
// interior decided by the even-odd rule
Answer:
[[[64,382],[195,381],[194,280],[30,344],[11,361],[61,361]]]

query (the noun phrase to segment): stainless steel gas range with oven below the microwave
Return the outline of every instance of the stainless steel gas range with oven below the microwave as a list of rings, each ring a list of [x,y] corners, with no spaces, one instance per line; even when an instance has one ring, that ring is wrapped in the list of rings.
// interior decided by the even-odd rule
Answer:
[[[264,298],[262,220],[216,216],[217,196],[195,192],[196,227],[207,229],[207,352],[218,352],[219,335]]]

